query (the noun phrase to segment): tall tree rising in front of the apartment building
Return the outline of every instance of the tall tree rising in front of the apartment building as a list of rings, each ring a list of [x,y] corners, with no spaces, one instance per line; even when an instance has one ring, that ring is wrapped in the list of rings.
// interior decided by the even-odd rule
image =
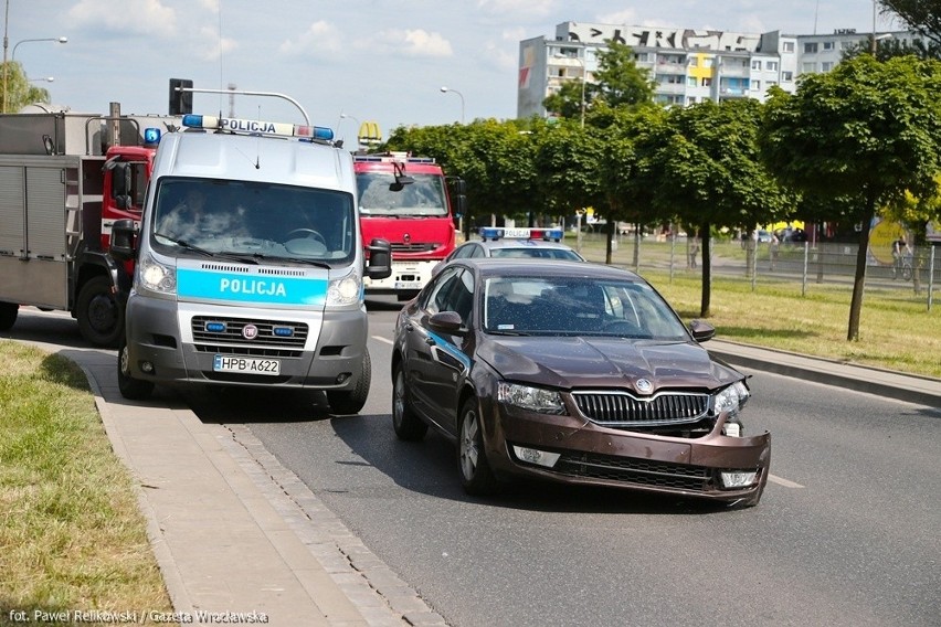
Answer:
[[[654,98],[654,84],[647,70],[637,67],[631,46],[612,40],[598,53],[594,84],[585,85],[591,102],[604,100],[610,107],[636,106]]]

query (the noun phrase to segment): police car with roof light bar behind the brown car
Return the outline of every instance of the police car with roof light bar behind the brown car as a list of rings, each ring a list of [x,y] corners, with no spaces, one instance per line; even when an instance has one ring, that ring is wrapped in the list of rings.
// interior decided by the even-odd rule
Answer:
[[[478,230],[480,240],[461,244],[451,252],[432,274],[444,267],[451,259],[476,257],[568,259],[584,262],[585,258],[573,248],[562,244],[561,229],[503,229],[485,226]]]

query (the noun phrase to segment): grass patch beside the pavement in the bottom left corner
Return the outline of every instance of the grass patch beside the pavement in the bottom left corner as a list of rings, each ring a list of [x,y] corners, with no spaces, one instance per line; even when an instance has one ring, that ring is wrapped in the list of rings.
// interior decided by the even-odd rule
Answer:
[[[0,625],[13,610],[170,610],[85,374],[15,342],[0,359]]]

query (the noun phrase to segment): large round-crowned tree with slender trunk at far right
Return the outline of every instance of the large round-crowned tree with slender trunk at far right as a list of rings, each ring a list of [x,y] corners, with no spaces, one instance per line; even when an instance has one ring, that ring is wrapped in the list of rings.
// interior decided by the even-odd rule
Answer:
[[[885,63],[871,55],[807,75],[789,95],[773,89],[760,136],[769,169],[785,184],[821,198],[856,199],[863,224],[847,340],[859,319],[876,208],[937,194],[941,170],[941,66],[912,56]]]

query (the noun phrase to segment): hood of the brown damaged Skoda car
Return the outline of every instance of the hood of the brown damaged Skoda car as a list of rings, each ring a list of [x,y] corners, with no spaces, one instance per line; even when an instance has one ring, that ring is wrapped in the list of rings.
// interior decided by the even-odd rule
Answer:
[[[699,344],[624,338],[499,338],[478,357],[504,379],[561,389],[624,387],[646,379],[660,389],[716,390],[742,374]]]

